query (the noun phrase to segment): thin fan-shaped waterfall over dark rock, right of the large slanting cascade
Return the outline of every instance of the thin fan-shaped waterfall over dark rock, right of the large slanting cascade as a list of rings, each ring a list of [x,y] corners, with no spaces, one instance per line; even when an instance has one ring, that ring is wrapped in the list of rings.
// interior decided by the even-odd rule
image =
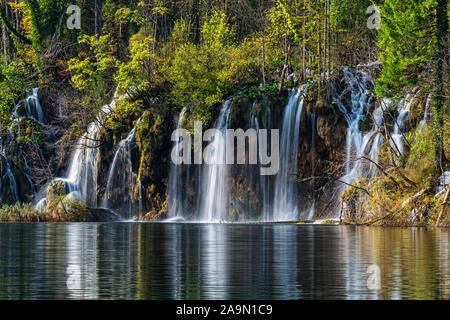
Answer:
[[[135,133],[145,113],[136,121],[136,125],[128,133],[127,137],[119,142],[114,159],[108,174],[108,183],[103,198],[103,207],[111,209],[122,217],[130,218],[137,211],[141,216],[141,199],[136,199],[136,187],[138,198],[141,196],[140,183],[133,172],[133,151],[136,147]]]

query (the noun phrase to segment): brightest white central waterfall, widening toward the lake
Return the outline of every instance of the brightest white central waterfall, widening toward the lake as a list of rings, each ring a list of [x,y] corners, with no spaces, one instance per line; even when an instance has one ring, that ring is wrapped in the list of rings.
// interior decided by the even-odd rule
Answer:
[[[215,136],[208,146],[206,163],[202,169],[200,220],[220,222],[226,219],[228,209],[228,172],[226,165],[226,130],[229,125],[231,99],[220,110],[215,129],[220,131],[222,139]],[[208,164],[210,163],[210,164]]]

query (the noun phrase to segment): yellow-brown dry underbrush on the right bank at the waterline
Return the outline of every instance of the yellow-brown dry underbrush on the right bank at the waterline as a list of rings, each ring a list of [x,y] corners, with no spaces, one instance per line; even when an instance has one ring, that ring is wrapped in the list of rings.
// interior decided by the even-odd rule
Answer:
[[[341,197],[343,222],[368,225],[448,225],[446,192],[436,196],[436,168],[431,126],[408,136],[410,149],[404,166],[387,166],[386,175],[361,179]],[[386,148],[384,148],[386,151]],[[381,153],[383,158],[383,152]],[[397,164],[398,165],[398,164]]]

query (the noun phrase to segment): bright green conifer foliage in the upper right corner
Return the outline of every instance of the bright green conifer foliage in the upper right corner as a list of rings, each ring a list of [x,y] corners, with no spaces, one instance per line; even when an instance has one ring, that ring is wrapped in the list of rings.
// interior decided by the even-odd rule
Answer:
[[[420,75],[429,74],[433,52],[430,16],[435,1],[386,0],[380,6],[378,56],[383,69],[376,80],[379,96],[401,95],[405,87],[418,83]]]

